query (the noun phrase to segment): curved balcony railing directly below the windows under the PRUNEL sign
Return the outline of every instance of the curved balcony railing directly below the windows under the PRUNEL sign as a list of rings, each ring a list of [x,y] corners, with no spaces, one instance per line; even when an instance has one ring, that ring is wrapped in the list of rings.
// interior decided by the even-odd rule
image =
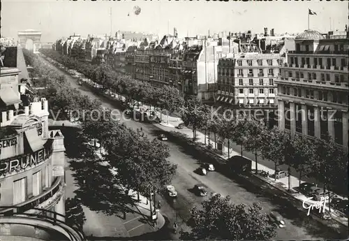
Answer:
[[[38,196],[33,196],[32,198],[30,198],[29,200],[26,200],[23,203],[18,203],[16,207],[18,210],[20,210],[20,212],[27,212],[28,210],[34,207],[38,207],[38,205],[52,198],[62,188],[63,188],[63,182],[61,180],[61,177],[57,177],[49,189],[43,191],[43,193],[40,193]],[[0,210],[0,214],[3,214],[3,213],[6,214],[11,212],[13,212],[13,209]]]

